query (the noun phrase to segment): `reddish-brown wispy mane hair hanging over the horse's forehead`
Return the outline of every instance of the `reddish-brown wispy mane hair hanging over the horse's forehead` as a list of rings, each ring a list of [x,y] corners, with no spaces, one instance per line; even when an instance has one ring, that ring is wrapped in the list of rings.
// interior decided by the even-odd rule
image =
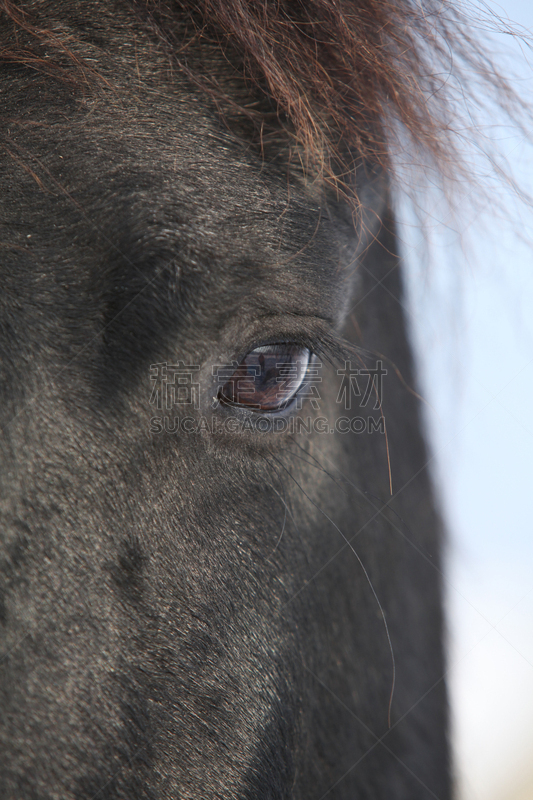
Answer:
[[[457,96],[468,73],[500,105],[517,100],[457,8],[440,0],[129,2],[186,70],[192,39],[238,52],[245,79],[263,88],[306,166],[337,185],[351,172],[352,153],[390,170],[391,151],[406,141],[441,169],[453,163],[457,174]],[[3,0],[0,7],[12,23],[0,60],[78,84],[94,78],[68,37],[33,22],[33,4]],[[181,38],[172,33],[177,19],[186,20]],[[201,83],[224,100],[216,78],[204,75]],[[263,131],[261,114],[239,111],[255,114]]]

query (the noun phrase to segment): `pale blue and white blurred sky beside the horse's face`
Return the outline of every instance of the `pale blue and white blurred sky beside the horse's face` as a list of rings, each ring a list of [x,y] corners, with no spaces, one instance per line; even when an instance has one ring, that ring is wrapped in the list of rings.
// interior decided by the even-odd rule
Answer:
[[[489,5],[532,33],[533,0]],[[517,85],[533,104],[533,51],[508,36],[498,44],[514,53]],[[509,130],[498,135],[533,192],[533,145]],[[434,225],[429,269],[423,243],[404,230],[434,475],[450,532],[459,800],[533,800],[533,210],[515,209],[501,192],[516,224],[488,212],[473,219],[466,198],[453,225],[445,213]]]

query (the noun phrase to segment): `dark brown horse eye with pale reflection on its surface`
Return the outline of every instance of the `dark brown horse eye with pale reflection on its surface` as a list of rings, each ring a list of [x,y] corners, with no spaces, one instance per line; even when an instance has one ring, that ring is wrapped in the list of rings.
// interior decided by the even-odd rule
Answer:
[[[251,350],[241,361],[218,399],[255,411],[279,411],[302,386],[311,351],[296,344],[269,344]]]

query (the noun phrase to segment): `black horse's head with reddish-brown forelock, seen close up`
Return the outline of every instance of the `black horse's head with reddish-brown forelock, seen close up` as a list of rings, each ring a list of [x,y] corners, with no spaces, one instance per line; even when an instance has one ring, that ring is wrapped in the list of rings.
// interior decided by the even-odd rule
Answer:
[[[449,797],[417,8],[2,3],[5,800]]]

